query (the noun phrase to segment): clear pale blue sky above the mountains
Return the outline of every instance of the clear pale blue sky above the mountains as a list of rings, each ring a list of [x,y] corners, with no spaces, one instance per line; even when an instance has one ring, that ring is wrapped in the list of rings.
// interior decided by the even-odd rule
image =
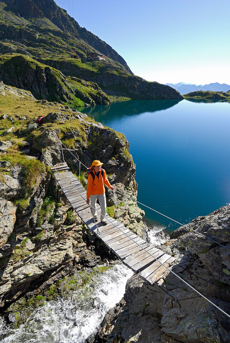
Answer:
[[[229,0],[56,3],[148,81],[230,84]]]

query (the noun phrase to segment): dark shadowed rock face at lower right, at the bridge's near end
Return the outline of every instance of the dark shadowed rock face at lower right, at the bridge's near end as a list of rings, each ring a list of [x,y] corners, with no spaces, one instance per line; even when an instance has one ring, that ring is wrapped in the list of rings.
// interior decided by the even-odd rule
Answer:
[[[179,265],[171,269],[230,314],[230,206],[187,226],[198,234],[183,227],[172,233],[168,253]],[[121,342],[199,343],[212,336],[218,342],[230,341],[228,317],[166,271],[154,285],[134,275],[127,282],[124,299],[106,314],[95,342],[112,342],[117,337]]]

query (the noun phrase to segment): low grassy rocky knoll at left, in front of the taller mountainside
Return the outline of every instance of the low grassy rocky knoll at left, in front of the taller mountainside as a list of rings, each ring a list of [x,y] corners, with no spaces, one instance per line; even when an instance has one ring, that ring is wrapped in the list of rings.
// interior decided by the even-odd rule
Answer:
[[[28,90],[37,99],[70,103],[72,106],[110,103],[96,83],[66,77],[59,70],[25,55],[1,56],[0,75],[5,84]]]

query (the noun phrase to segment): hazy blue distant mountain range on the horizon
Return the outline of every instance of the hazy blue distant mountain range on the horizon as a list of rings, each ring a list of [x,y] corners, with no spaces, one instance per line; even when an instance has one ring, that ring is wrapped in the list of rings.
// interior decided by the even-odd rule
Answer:
[[[228,92],[230,90],[230,85],[227,85],[226,83],[209,83],[206,85],[195,85],[195,84],[188,84],[184,82],[179,83],[165,83],[166,86],[170,86],[174,88],[176,91],[178,91],[181,94],[187,94],[190,92],[196,92],[196,91],[214,91],[214,92]]]

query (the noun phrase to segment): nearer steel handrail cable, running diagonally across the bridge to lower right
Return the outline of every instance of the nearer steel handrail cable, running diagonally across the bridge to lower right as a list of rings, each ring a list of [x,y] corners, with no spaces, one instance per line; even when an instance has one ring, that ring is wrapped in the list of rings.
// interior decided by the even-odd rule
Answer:
[[[51,164],[51,162],[49,162]],[[51,164],[52,165],[52,164]],[[54,167],[54,166],[53,166]],[[55,167],[54,167],[55,168]],[[55,168],[55,170],[57,171],[57,173],[59,174],[59,177],[63,178],[69,185],[70,187],[72,187],[79,195],[82,199],[84,199],[81,194],[78,192],[77,189],[75,189],[63,176],[60,176],[59,171]],[[84,199],[85,200],[85,199]],[[93,206],[91,206],[94,210],[96,210]],[[102,215],[102,214],[101,214]],[[203,294],[201,294],[199,291],[196,290],[196,288],[194,288],[192,285],[190,285],[188,282],[186,282],[185,280],[183,280],[179,275],[177,275],[176,273],[174,273],[171,269],[169,269],[168,267],[166,267],[166,265],[164,265],[164,263],[162,263],[160,260],[158,260],[158,258],[154,257],[150,252],[148,252],[145,248],[141,247],[139,243],[135,242],[135,240],[133,238],[131,238],[130,236],[128,236],[126,233],[124,233],[122,231],[122,229],[120,229],[117,225],[115,225],[111,220],[109,220],[108,218],[106,218],[104,215],[102,215],[106,220],[108,220],[113,226],[115,226],[116,228],[118,228],[123,234],[125,234],[127,237],[129,237],[129,239],[133,240],[134,243],[136,243],[141,249],[145,250],[145,252],[147,252],[151,257],[153,257],[155,260],[157,260],[158,262],[160,262],[161,265],[163,265],[165,267],[165,269],[169,270],[169,272],[171,272],[173,275],[175,275],[179,280],[181,280],[182,282],[184,282],[187,286],[189,286],[190,288],[193,289],[194,292],[196,292],[197,294],[199,294],[201,297],[203,297],[205,300],[207,300],[212,306],[216,307],[218,310],[220,310],[223,314],[225,314],[228,318],[230,318],[230,315],[228,315],[225,311],[223,311],[220,307],[218,307],[217,305],[215,305],[214,303],[212,303],[212,301],[210,301],[208,298],[206,298]]]

